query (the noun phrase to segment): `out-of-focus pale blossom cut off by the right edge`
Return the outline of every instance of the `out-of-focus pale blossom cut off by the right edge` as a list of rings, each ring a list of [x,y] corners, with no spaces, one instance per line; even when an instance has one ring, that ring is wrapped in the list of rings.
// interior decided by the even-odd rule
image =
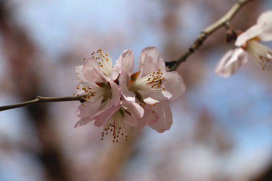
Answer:
[[[272,11],[261,14],[256,25],[237,37],[235,49],[228,51],[219,61],[215,73],[229,77],[248,60],[248,54],[263,70],[269,70],[272,63],[272,50],[258,41],[272,40]]]

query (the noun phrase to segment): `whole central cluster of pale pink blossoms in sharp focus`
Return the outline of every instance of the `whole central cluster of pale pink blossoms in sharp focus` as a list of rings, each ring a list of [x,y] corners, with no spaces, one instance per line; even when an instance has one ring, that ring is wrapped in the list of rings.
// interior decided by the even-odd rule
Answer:
[[[169,130],[172,113],[167,103],[181,99],[185,85],[181,76],[166,72],[165,63],[156,47],[145,48],[140,56],[140,71],[133,73],[133,52],[127,49],[112,65],[109,54],[101,49],[93,52],[84,65],[75,69],[77,95],[83,103],[77,114],[81,118],[75,127],[94,121],[103,126],[105,134],[112,132],[113,142],[119,136],[127,140],[125,125],[139,132],[150,126],[157,132]]]

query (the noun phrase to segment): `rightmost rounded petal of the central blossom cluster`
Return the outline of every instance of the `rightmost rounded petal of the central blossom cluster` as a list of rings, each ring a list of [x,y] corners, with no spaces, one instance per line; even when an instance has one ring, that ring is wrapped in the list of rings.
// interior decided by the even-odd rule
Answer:
[[[172,95],[169,99],[171,102],[181,99],[185,93],[186,86],[183,84],[183,79],[176,71],[167,72],[165,74],[163,85],[166,91]]]

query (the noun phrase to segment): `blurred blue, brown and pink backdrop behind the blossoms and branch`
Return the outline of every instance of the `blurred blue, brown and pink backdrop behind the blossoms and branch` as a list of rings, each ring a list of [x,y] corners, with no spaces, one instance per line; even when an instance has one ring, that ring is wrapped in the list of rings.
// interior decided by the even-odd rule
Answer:
[[[135,71],[150,45],[177,59],[235,2],[0,0],[0,105],[72,96],[74,68],[97,49],[116,61],[131,48]],[[253,1],[232,26],[245,31],[270,9]],[[127,128],[128,141],[101,141],[93,123],[74,128],[79,102],[0,112],[0,180],[272,180],[272,74],[249,61],[217,77],[234,46],[224,39],[221,28],[179,66],[187,89],[162,134]]]

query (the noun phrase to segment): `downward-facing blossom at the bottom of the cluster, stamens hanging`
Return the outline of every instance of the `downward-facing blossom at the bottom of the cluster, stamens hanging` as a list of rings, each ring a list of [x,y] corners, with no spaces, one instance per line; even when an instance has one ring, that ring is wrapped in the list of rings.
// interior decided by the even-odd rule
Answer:
[[[137,103],[121,100],[115,107],[101,111],[96,115],[86,119],[82,118],[78,121],[75,127],[86,125],[95,120],[94,125],[103,126],[102,138],[109,132],[113,133],[113,142],[118,142],[119,136],[124,136],[127,140],[125,125],[130,125],[140,128],[144,109]]]

